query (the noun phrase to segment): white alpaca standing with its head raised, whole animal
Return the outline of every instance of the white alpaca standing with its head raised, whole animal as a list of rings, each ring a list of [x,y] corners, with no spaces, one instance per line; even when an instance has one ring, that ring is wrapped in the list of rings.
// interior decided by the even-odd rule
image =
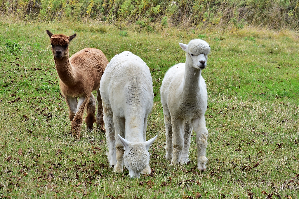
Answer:
[[[176,64],[165,74],[161,86],[166,128],[166,159],[171,165],[187,163],[192,127],[196,132],[197,169],[206,170],[208,130],[205,111],[208,104],[207,86],[201,71],[206,67],[210,46],[194,39],[188,45],[179,43],[186,51],[186,62]]]

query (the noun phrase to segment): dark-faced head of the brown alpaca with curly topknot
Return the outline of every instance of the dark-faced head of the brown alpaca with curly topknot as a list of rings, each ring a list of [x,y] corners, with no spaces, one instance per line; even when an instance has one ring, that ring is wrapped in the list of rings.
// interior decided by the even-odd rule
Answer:
[[[68,44],[76,37],[76,33],[72,36],[53,35],[49,30],[47,30],[47,34],[50,37],[52,46],[51,50],[54,58],[62,59],[64,57],[68,57]]]

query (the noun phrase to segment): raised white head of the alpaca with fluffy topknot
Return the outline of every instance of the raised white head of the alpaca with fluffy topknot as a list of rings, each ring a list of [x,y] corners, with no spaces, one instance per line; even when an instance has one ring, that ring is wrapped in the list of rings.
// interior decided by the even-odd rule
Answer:
[[[201,39],[193,39],[188,45],[179,44],[187,53],[186,62],[188,61],[193,68],[202,70],[207,66],[208,54],[211,50],[207,42]]]

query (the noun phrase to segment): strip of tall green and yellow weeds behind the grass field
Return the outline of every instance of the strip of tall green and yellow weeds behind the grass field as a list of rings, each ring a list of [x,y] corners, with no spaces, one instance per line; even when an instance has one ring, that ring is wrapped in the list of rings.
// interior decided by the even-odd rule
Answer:
[[[299,27],[298,0],[0,0],[1,15],[57,20],[99,19],[141,26],[161,23],[197,27],[246,24],[270,29]],[[153,26],[154,27],[154,26]]]

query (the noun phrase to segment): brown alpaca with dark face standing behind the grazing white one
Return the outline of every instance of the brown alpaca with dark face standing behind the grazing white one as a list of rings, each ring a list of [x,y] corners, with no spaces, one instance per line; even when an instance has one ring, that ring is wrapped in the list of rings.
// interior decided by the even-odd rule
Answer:
[[[76,37],[76,34],[53,35],[49,30],[47,33],[51,38],[55,68],[60,79],[60,90],[68,106],[68,118],[71,120],[73,135],[80,139],[83,113],[86,108],[87,129],[92,129],[93,123],[97,121],[97,127],[105,131],[99,88],[100,79],[108,64],[107,58],[101,50],[95,48],[85,48],[69,58],[68,44]],[[97,119],[94,117],[96,102],[91,93],[94,90],[97,91]]]

